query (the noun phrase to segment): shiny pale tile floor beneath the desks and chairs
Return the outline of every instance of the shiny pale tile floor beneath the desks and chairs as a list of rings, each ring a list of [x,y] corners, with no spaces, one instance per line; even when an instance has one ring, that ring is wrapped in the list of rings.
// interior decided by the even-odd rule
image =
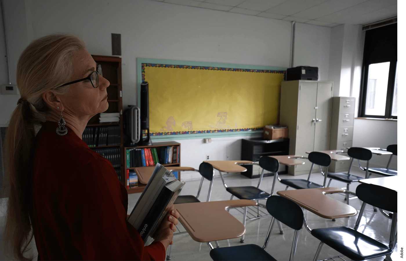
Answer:
[[[355,169],[355,168],[354,168]],[[356,173],[357,170],[354,170]],[[356,173],[356,175],[362,177],[363,173],[361,171]],[[364,174],[365,175],[365,174]],[[256,179],[249,179],[245,176],[240,174],[231,174],[225,175],[225,182],[228,186],[257,186],[258,178]],[[289,176],[289,175],[280,175],[281,179],[286,178],[302,178],[307,179],[307,175],[300,175],[300,176]],[[374,176],[372,176],[374,177]],[[378,177],[378,176],[376,176]],[[316,183],[323,183],[323,176],[320,173],[313,173],[311,180]],[[261,183],[261,189],[270,192],[272,188],[272,181],[273,177],[264,177]],[[187,180],[182,190],[181,194],[184,195],[196,195],[197,189],[199,187],[200,179],[194,180]],[[351,191],[355,191],[356,186],[358,183],[353,183],[350,186]],[[341,183],[339,181],[332,181],[331,187],[344,187],[345,183]],[[199,198],[201,201],[205,201],[207,198],[207,191],[209,187],[209,181],[205,180],[203,182],[203,188],[201,195]],[[275,192],[279,190],[284,190],[285,186],[277,181],[275,185]],[[291,189],[291,188],[290,188]],[[136,194],[129,194],[128,195],[128,214],[130,214],[132,208],[136,204],[139,196],[141,193]],[[229,200],[231,194],[227,192],[222,185],[220,176],[218,175],[218,171],[215,172],[214,177],[214,184],[212,189],[212,196],[210,201],[218,201],[218,200]],[[344,196],[341,194],[330,194],[331,197],[336,198],[342,202],[344,201]],[[261,201],[260,201],[261,203]],[[265,203],[263,201],[262,203]],[[361,208],[361,201],[358,199],[351,199],[350,205],[355,207],[357,210]],[[237,209],[231,209],[230,213],[233,214],[239,220],[242,220],[242,213],[240,213]],[[321,227],[330,227],[330,226],[350,226],[354,227],[355,221],[357,216],[350,217],[350,218],[338,218],[336,221],[328,220],[321,218],[310,211],[304,211],[306,220],[311,228],[321,228]],[[207,220],[207,222],[216,222],[216,220]],[[220,247],[224,246],[238,246],[241,244],[258,244],[259,246],[263,246],[265,241],[265,235],[268,231],[270,224],[270,217],[261,218],[258,220],[251,220],[246,222],[246,234],[245,234],[245,242],[240,243],[240,238],[235,239],[228,239],[219,241]],[[365,227],[367,224],[367,227]],[[389,244],[389,231],[390,231],[390,220],[384,217],[379,211],[374,212],[372,206],[367,205],[365,209],[365,214],[363,219],[361,220],[360,227],[358,231],[369,235],[372,238],[377,239],[378,241]],[[0,231],[3,231],[4,227],[4,216],[0,216]],[[178,225],[179,231],[185,231],[181,225]],[[268,248],[266,249],[275,259],[277,260],[289,260],[289,254],[292,246],[293,240],[293,229],[288,228],[287,226],[283,226],[284,234],[279,234],[279,229],[276,224],[274,225],[274,229],[272,231],[272,235],[270,236],[270,241],[268,244]],[[0,244],[2,243],[0,235]],[[195,242],[187,233],[182,235],[175,235],[173,239],[173,246],[171,250],[171,261],[179,261],[179,260],[212,260],[209,256],[209,247],[206,243],[199,243]],[[305,229],[300,231],[298,246],[296,249],[296,261],[301,260],[313,260],[315,252],[317,250],[317,246],[319,245],[320,241],[313,237],[309,232]],[[212,244],[215,246],[214,242]],[[35,242],[33,241],[32,244],[32,252],[35,254],[35,259],[37,260],[37,251],[35,247]],[[319,259],[336,256],[339,253],[329,246],[324,245],[322,251],[320,253]],[[397,261],[397,244],[395,245],[395,249],[391,255],[393,261]],[[349,260],[348,258],[345,258]],[[4,255],[4,249],[0,248],[0,260],[9,260]],[[338,259],[336,259],[338,260]],[[378,257],[375,259],[370,259],[371,261],[381,261],[384,260],[384,257]]]

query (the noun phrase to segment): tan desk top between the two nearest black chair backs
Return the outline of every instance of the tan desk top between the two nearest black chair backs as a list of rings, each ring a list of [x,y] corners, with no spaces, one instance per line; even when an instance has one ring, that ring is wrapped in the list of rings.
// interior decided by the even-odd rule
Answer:
[[[344,192],[341,188],[306,188],[301,190],[283,190],[278,195],[296,202],[301,207],[322,218],[343,218],[355,216],[356,209],[325,194]]]

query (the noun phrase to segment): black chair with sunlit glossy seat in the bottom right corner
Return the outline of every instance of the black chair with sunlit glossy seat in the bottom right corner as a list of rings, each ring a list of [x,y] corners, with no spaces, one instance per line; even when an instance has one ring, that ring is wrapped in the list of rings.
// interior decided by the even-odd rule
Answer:
[[[356,188],[356,196],[363,201],[363,204],[354,229],[347,226],[337,226],[312,229],[310,231],[313,236],[321,241],[313,261],[318,259],[323,244],[343,254],[336,257],[346,256],[351,260],[358,261],[386,256],[384,260],[392,260],[390,255],[397,241],[397,191],[373,184],[360,184]],[[389,246],[357,231],[366,204],[393,212]]]

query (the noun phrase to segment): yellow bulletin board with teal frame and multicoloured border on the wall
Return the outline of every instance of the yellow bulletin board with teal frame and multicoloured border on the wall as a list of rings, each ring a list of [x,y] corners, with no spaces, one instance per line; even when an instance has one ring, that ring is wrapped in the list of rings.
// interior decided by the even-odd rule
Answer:
[[[152,137],[235,136],[279,123],[286,68],[140,58],[137,62],[139,84],[149,83]]]

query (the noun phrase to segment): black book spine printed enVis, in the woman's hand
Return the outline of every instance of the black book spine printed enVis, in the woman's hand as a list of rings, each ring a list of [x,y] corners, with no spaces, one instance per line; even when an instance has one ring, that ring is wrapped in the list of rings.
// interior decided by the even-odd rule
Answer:
[[[168,188],[162,188],[151,209],[148,211],[148,214],[145,216],[143,222],[141,222],[141,226],[138,228],[138,233],[140,233],[144,242],[157,225],[158,219],[165,211],[166,205],[171,201],[173,194],[174,192]]]

